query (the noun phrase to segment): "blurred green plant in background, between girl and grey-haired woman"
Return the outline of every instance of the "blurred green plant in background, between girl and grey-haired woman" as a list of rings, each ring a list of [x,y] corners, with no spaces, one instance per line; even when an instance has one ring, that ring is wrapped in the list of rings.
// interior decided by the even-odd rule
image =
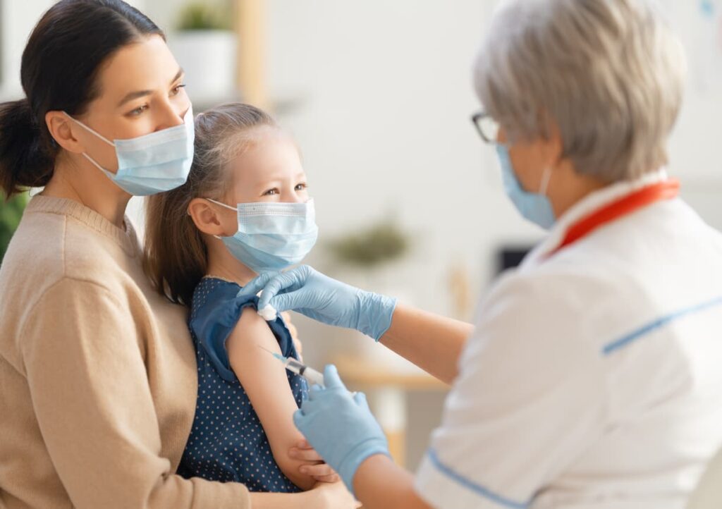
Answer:
[[[386,219],[331,240],[326,248],[337,261],[372,269],[404,256],[411,248],[411,239],[395,221]]]

